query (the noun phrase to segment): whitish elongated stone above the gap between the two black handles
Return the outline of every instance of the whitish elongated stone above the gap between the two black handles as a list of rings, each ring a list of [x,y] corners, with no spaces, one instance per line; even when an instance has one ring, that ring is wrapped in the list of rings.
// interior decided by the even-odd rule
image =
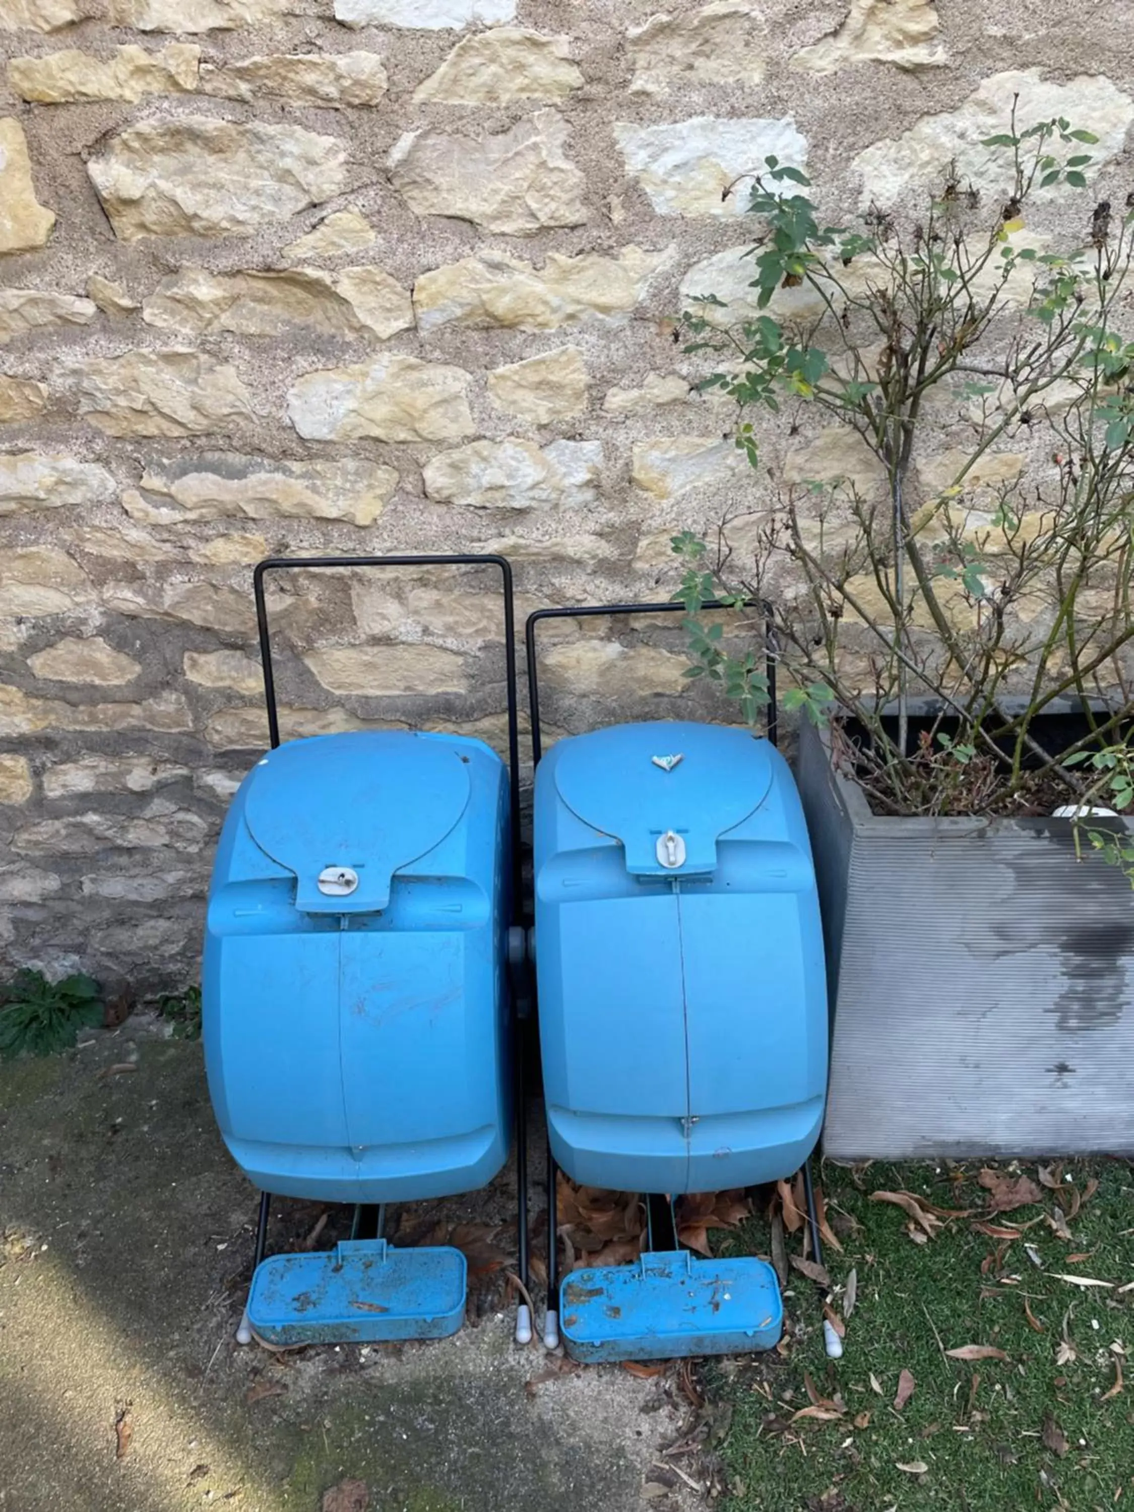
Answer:
[[[538,510],[594,503],[600,442],[473,442],[422,470],[426,497],[473,510]]]

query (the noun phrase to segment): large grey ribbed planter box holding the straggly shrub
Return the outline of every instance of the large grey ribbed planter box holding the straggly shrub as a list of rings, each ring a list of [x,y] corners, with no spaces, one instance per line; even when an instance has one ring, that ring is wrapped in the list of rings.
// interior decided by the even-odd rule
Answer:
[[[889,818],[800,732],[841,1160],[1134,1151],[1134,891],[1066,820]]]

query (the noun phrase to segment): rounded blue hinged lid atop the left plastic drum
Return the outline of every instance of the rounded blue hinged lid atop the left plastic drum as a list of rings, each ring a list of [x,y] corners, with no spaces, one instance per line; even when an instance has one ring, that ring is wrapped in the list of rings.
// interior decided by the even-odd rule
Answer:
[[[438,845],[469,803],[469,768],[443,739],[402,730],[289,741],[254,768],[245,818],[295,872],[305,913],[366,913],[390,880]]]

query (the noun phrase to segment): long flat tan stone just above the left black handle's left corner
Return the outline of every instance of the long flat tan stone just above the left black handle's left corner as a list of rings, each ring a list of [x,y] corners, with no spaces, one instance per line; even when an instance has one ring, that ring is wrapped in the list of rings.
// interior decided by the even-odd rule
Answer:
[[[343,520],[373,525],[398,487],[393,467],[363,457],[283,461],[206,452],[151,464],[139,491],[122,494],[125,511],[145,525],[178,520]]]

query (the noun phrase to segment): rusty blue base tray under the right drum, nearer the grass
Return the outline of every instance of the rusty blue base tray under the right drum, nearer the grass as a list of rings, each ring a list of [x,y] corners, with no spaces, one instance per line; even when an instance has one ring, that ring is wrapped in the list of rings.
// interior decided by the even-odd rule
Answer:
[[[774,1349],[783,1303],[767,1261],[643,1255],[637,1266],[573,1270],[559,1288],[567,1353],[593,1364]]]

